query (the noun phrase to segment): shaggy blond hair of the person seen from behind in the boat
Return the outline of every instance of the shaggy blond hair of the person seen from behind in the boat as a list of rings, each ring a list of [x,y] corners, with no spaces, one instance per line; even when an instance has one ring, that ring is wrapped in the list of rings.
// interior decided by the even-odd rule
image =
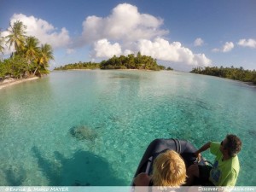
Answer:
[[[151,179],[154,186],[180,186],[186,180],[186,166],[182,157],[173,150],[159,154],[153,165]]]

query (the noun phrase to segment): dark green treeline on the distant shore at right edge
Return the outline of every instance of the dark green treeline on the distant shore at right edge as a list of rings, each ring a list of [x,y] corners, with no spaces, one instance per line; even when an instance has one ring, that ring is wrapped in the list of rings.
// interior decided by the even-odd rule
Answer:
[[[206,74],[256,84],[256,71],[245,70],[243,67],[196,67],[190,73]]]

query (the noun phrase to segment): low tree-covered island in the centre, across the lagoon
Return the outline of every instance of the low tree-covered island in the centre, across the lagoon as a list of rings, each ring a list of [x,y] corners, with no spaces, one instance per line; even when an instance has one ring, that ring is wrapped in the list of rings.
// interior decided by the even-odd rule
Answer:
[[[75,64],[68,64],[64,67],[56,67],[55,70],[68,70],[68,69],[144,69],[144,70],[165,70],[166,67],[157,64],[156,60],[151,56],[141,55],[140,52],[137,55],[120,55],[117,57],[113,55],[112,58],[101,63],[91,62],[79,62]],[[168,67],[167,70],[173,70]]]

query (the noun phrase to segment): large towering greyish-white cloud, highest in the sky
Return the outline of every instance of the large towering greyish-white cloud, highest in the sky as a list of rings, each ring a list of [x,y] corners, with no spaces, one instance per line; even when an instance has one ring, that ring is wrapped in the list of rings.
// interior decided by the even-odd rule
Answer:
[[[167,34],[168,31],[160,29],[162,24],[162,19],[140,14],[136,6],[123,3],[116,6],[111,15],[105,18],[95,15],[87,17],[83,22],[82,35],[86,43],[102,38],[111,41],[137,41]]]

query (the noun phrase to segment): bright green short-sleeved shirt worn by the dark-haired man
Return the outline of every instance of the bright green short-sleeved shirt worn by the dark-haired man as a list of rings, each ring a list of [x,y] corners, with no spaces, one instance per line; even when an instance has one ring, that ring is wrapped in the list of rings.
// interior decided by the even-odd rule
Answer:
[[[210,151],[216,155],[209,180],[215,186],[235,186],[239,173],[239,160],[237,155],[229,160],[222,160],[223,154],[220,151],[220,143],[212,142]]]

